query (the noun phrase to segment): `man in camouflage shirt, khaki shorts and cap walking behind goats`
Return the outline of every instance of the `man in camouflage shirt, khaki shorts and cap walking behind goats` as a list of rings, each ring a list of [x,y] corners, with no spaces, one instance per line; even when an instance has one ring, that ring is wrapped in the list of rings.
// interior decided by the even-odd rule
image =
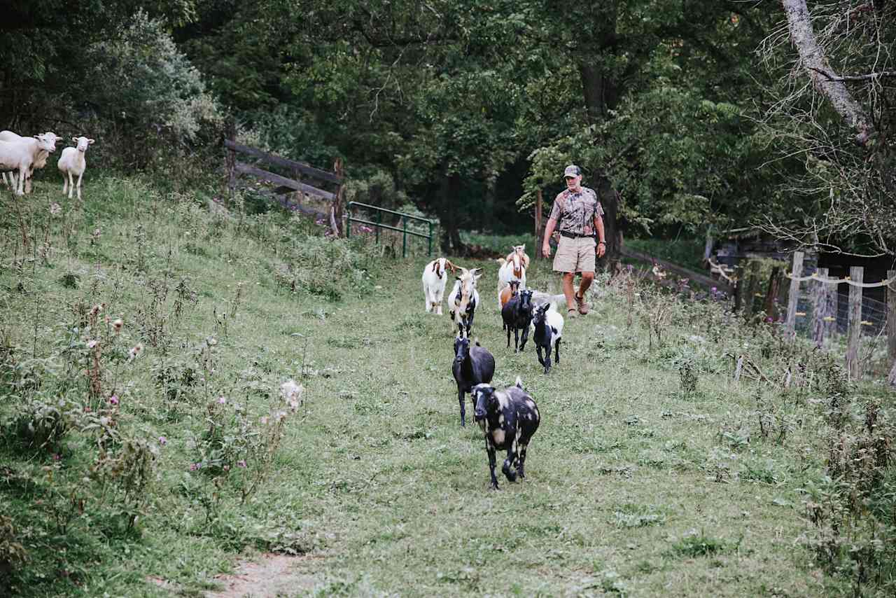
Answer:
[[[602,257],[607,251],[602,218],[604,209],[598,201],[598,194],[593,189],[582,186],[582,170],[578,166],[567,166],[564,178],[566,190],[554,200],[550,218],[547,219],[541,253],[546,258],[551,256],[548,241],[554,230],[559,230],[560,244],[554,257],[554,272],[563,275],[566,317],[574,317],[577,311],[584,316],[588,313],[585,291],[594,280],[595,256]],[[582,273],[578,292],[573,290],[576,273]]]

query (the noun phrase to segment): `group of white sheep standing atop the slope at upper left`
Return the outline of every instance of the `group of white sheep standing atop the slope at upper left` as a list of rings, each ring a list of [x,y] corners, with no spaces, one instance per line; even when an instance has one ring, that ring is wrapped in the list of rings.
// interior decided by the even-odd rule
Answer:
[[[62,137],[52,132],[22,137],[12,131],[0,131],[0,173],[3,173],[4,184],[10,186],[16,195],[30,193],[34,171],[47,166],[47,157],[56,152],[56,142],[59,141]],[[75,147],[66,147],[56,165],[63,176],[63,194],[67,192],[71,199],[77,186],[78,199],[81,199],[81,179],[87,169],[84,153],[94,140],[72,137],[72,141]],[[77,185],[74,177],[78,178]]]

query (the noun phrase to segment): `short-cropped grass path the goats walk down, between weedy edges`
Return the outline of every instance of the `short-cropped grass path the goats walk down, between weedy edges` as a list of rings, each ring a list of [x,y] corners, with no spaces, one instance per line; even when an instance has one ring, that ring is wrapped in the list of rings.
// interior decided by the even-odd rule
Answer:
[[[681,398],[676,369],[645,359],[646,339],[625,331],[610,296],[567,322],[545,376],[531,343],[505,348],[496,264],[457,260],[486,270],[474,336],[495,354],[495,386],[521,376],[542,413],[526,481],[499,472],[501,490],[489,490],[481,432],[460,426],[447,316],[423,313],[424,262],[396,264],[374,296],[303,320],[318,376],[278,483],[299,492],[309,529],[327,533],[322,558],[298,566],[331,580],[325,593],[821,591],[795,546],[806,527],[786,464],[742,455],[780,469],[781,483],[740,481],[737,463],[719,483],[709,466],[720,425],[750,417],[748,394],[719,377]],[[543,263],[530,286],[556,291]]]

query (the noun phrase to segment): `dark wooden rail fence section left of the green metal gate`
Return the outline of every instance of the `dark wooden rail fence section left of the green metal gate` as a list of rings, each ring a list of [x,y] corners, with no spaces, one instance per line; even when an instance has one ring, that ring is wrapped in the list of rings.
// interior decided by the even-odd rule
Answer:
[[[252,188],[255,192],[267,195],[291,210],[296,210],[316,218],[329,220],[333,232],[339,235],[343,234],[342,212],[344,177],[341,160],[337,159],[333,166],[333,170],[330,171],[314,168],[314,166],[304,162],[281,158],[280,156],[269,152],[263,152],[257,148],[237,143],[232,138],[225,139],[224,146],[228,150],[226,167],[228,172],[228,189],[231,193],[240,187]],[[237,153],[251,156],[268,165],[283,169],[289,172],[291,177],[286,177],[269,170],[260,169],[252,164],[238,161]],[[259,190],[254,186],[240,185],[237,179],[238,174],[248,175],[257,180],[278,185],[280,186],[280,189],[285,187],[286,189],[289,189],[289,192],[297,191],[299,192],[299,197],[303,194],[312,195],[323,200],[328,205],[329,209],[327,209],[326,212],[322,212],[321,210],[303,205],[301,200],[299,200],[297,204],[291,204],[287,197],[289,192],[283,193],[277,189]],[[310,180],[314,185],[309,185],[306,182],[303,182],[303,179]],[[321,186],[333,186],[334,188],[332,191],[327,191],[321,188]]]

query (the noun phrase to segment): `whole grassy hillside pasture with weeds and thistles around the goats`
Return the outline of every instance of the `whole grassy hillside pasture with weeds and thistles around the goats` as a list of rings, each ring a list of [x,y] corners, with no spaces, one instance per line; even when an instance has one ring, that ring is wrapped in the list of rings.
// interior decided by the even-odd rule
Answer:
[[[136,179],[56,193],[0,200],[0,589],[199,595],[277,551],[297,595],[838,594],[859,562],[860,592],[892,590],[867,532],[892,529],[892,470],[849,465],[889,455],[861,443],[868,405],[892,438],[892,396],[773,328],[603,281],[546,377],[504,348],[497,266],[465,264],[496,383],[543,418],[527,480],[493,491],[425,256]],[[542,262],[529,280],[556,292]],[[831,533],[851,491],[864,515]]]

